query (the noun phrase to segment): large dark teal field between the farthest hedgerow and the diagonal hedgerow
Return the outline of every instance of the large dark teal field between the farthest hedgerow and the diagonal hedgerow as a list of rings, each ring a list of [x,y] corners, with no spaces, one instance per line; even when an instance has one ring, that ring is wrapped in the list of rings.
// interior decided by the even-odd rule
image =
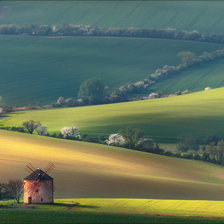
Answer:
[[[219,47],[158,39],[1,36],[0,96],[8,104],[52,103],[60,96],[76,97],[90,77],[119,87],[165,64],[178,64],[180,51],[201,54]]]

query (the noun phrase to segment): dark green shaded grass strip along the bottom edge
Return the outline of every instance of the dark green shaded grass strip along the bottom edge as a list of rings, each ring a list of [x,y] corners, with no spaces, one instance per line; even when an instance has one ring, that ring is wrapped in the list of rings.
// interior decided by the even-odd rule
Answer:
[[[161,215],[135,215],[95,212],[39,211],[39,210],[0,210],[4,224],[218,224],[222,218],[180,217]]]

